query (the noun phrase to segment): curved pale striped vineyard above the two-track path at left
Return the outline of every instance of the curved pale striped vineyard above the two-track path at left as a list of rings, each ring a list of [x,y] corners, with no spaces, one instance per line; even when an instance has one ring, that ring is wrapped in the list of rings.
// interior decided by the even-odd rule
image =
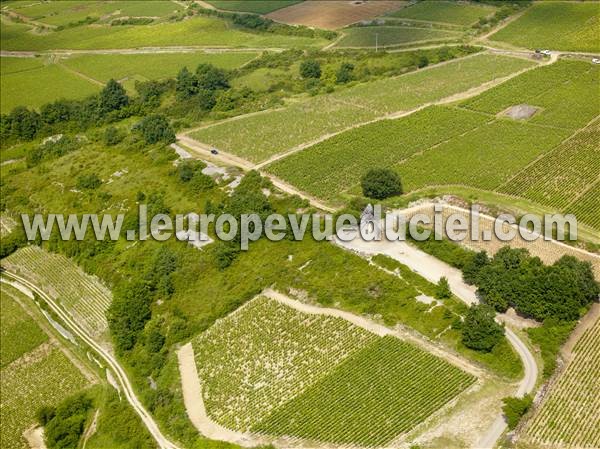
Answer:
[[[2,264],[21,274],[51,296],[91,335],[106,331],[106,310],[111,293],[97,278],[85,274],[66,257],[28,246],[3,259]]]

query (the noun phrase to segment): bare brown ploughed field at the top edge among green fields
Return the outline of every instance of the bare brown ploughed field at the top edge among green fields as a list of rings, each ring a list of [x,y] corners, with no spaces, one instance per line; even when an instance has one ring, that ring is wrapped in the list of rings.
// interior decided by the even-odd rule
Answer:
[[[406,3],[396,0],[308,0],[273,11],[267,17],[290,25],[334,30],[395,11]]]

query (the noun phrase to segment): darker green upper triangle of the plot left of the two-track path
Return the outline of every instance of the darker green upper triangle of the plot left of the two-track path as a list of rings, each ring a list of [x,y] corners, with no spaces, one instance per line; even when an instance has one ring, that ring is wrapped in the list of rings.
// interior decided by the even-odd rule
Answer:
[[[22,295],[17,296],[15,289],[7,287],[3,283],[0,297],[0,314],[2,315],[0,368],[4,368],[23,354],[48,341],[48,336],[39,328],[33,318],[25,313],[15,298],[28,300]]]

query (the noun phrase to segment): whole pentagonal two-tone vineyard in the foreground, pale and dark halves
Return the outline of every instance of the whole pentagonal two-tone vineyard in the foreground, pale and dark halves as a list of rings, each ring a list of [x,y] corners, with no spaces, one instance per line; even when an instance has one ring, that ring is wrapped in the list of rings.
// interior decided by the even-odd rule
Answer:
[[[395,337],[266,297],[217,321],[193,346],[209,416],[268,436],[382,444],[475,381]]]

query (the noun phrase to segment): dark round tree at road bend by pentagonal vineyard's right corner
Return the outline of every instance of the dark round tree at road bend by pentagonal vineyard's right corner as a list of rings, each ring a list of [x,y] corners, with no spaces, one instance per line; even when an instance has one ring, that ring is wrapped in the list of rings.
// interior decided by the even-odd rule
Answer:
[[[496,323],[494,309],[486,304],[472,305],[462,329],[462,341],[467,348],[491,351],[504,335],[504,328]]]

